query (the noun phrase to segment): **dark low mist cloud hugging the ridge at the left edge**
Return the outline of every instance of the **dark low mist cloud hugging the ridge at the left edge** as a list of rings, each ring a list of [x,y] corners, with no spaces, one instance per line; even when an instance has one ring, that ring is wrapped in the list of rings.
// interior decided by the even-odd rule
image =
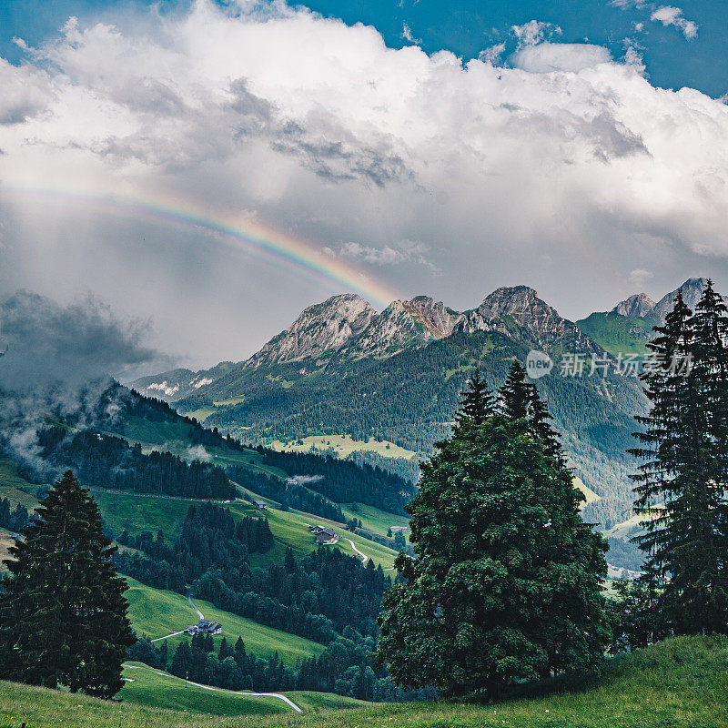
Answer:
[[[62,307],[20,290],[0,302],[0,390],[80,384],[148,363],[148,327],[93,298]],[[158,360],[158,359],[157,359]]]

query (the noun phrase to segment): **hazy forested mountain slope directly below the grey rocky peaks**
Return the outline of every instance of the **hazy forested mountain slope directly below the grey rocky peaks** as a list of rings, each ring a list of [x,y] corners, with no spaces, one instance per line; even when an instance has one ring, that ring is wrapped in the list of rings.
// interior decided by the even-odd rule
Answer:
[[[569,341],[559,340],[552,356],[569,347]],[[511,360],[522,361],[528,352],[525,344],[505,335],[479,331],[339,369],[300,374],[300,364],[277,364],[287,387],[268,378],[262,366],[238,369],[243,379],[235,386],[246,388],[245,400],[218,407],[206,425],[246,440],[346,434],[428,453],[449,432],[460,390],[475,367],[480,366],[492,387],[499,387]],[[557,363],[537,386],[563,434],[576,474],[602,497],[590,506],[591,517],[622,520],[632,501],[627,475],[634,463],[625,454],[633,445],[632,413],[645,406],[639,383],[613,372],[605,378],[563,377]]]

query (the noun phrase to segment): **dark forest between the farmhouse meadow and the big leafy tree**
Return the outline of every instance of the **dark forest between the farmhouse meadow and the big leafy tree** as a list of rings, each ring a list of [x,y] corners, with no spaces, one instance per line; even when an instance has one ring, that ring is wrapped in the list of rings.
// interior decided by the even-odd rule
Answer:
[[[286,551],[282,565],[263,571],[209,569],[192,587],[219,609],[328,644],[347,628],[376,638],[376,617],[391,580],[371,560],[362,568],[338,549],[319,549],[296,561]]]

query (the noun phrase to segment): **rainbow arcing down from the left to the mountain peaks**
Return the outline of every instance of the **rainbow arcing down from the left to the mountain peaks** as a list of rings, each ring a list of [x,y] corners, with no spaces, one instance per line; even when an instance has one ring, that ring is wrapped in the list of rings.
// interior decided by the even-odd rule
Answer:
[[[60,187],[25,187],[3,182],[3,192],[9,191],[22,197],[49,197],[81,206],[90,206],[109,214],[183,228],[201,233],[227,248],[268,258],[283,263],[289,270],[324,282],[339,292],[358,293],[377,308],[386,308],[399,298],[393,289],[359,268],[339,258],[326,255],[306,240],[257,220],[229,214],[210,214],[189,200],[164,198],[158,195],[132,197],[117,194],[70,190]]]

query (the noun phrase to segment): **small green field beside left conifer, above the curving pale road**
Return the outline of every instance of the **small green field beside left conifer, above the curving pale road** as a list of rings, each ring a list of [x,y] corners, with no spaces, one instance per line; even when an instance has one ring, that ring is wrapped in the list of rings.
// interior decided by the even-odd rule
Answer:
[[[227,691],[210,691],[194,684],[186,685],[184,680],[152,670],[141,662],[127,662],[124,677],[133,682],[126,682],[117,699],[133,705],[225,716],[292,711],[278,698],[246,697]]]

